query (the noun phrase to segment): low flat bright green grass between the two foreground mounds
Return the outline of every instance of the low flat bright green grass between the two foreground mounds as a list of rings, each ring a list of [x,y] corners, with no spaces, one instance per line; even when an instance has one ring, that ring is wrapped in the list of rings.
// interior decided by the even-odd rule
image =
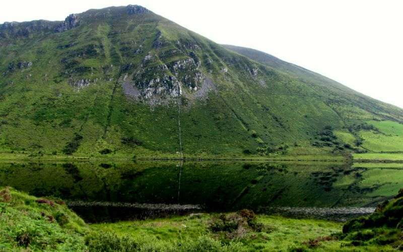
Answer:
[[[229,213],[195,214],[155,220],[124,221],[118,223],[93,224],[99,233],[115,233],[141,241],[142,249],[150,248],[144,240],[155,241],[154,248],[172,251],[379,251],[391,250],[387,245],[366,244],[353,246],[351,241],[339,240],[337,233],[343,223],[290,219],[280,216],[259,215],[253,228],[234,224],[237,215]],[[242,222],[242,221],[241,221]],[[143,241],[143,242],[142,242]],[[197,244],[197,249],[189,249]],[[211,245],[215,244],[215,246]],[[194,247],[193,245],[191,246]]]

